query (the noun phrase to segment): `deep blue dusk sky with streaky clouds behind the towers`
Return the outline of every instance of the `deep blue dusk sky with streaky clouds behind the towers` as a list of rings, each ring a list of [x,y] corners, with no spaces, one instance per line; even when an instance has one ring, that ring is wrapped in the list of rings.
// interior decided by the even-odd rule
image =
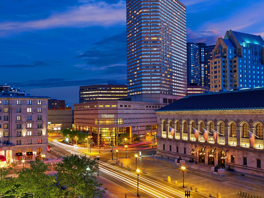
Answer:
[[[187,41],[264,37],[264,1],[182,0]],[[78,103],[80,85],[126,83],[125,1],[1,1],[0,84]]]

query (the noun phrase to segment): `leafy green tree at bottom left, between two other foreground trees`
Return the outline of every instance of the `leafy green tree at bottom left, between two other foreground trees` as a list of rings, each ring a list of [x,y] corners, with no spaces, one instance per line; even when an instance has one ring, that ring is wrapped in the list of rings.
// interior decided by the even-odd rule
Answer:
[[[23,168],[16,179],[15,197],[50,198],[61,197],[55,176],[46,175],[48,166],[41,160],[30,161],[30,168]]]

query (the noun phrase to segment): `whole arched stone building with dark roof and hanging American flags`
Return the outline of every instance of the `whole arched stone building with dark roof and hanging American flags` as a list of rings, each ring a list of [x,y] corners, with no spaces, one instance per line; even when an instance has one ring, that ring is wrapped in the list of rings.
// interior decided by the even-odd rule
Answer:
[[[264,88],[186,96],[156,111],[157,154],[264,176]],[[172,135],[169,126],[175,129]],[[197,134],[194,129],[201,133]],[[203,129],[209,131],[207,139]],[[213,130],[217,132],[214,138]],[[251,133],[255,141],[250,141]]]

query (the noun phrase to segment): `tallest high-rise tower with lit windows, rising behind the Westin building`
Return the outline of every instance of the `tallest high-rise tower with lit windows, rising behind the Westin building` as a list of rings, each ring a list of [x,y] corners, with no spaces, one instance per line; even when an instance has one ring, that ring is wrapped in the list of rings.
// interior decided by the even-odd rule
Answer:
[[[171,102],[186,95],[186,6],[180,1],[128,0],[128,96]]]

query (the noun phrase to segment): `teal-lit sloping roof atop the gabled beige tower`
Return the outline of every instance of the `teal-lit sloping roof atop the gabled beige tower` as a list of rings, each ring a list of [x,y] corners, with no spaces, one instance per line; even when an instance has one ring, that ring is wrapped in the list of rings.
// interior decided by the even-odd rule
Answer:
[[[227,31],[225,34],[224,39],[229,39],[230,33],[233,33],[235,38],[238,40],[240,45],[243,45],[243,43],[252,43],[257,45],[263,45],[264,46],[264,40],[261,36],[253,35],[253,34],[246,34],[242,32],[236,32],[236,31]]]

